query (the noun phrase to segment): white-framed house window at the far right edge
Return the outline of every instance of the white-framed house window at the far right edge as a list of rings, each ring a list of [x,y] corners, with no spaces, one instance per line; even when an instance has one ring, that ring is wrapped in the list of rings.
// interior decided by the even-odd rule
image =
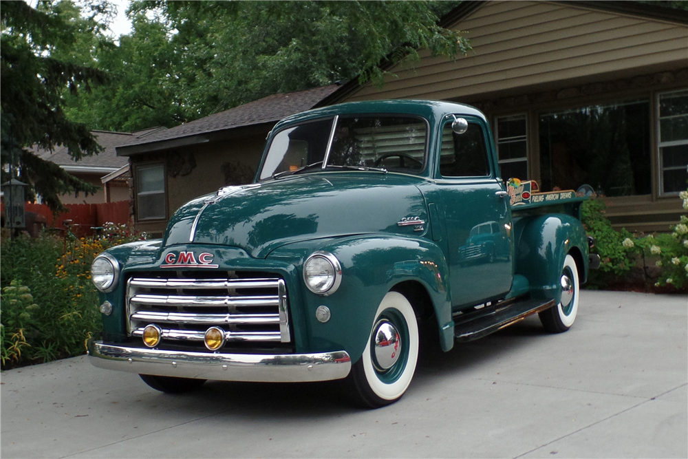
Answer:
[[[658,98],[660,193],[678,193],[688,180],[688,91]]]

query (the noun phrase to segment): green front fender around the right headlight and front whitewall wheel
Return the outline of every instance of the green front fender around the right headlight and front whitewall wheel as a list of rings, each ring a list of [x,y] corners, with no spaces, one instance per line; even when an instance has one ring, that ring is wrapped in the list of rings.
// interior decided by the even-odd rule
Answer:
[[[334,254],[342,267],[342,282],[330,296],[316,295],[301,282],[301,325],[310,352],[346,350],[353,362],[363,354],[375,312],[396,284],[417,281],[428,292],[440,328],[444,350],[453,345],[449,268],[433,242],[413,237],[356,236],[299,242],[272,252],[268,259],[289,259],[303,270],[303,261],[315,250]],[[295,305],[290,305],[294,308]],[[319,322],[315,310],[327,306],[332,316]],[[299,306],[297,306],[299,307]]]

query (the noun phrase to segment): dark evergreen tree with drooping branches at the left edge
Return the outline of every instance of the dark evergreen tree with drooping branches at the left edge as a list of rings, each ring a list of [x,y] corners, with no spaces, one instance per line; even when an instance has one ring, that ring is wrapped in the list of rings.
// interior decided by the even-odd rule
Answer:
[[[83,123],[65,116],[64,94],[88,92],[92,83],[103,83],[106,74],[75,59],[56,57],[74,44],[74,25],[58,11],[42,5],[31,8],[23,1],[0,4],[0,157],[18,167],[20,180],[32,184],[54,211],[63,209],[62,193],[93,193],[96,188],[45,161],[30,149],[52,150],[65,145],[76,160],[100,151]]]

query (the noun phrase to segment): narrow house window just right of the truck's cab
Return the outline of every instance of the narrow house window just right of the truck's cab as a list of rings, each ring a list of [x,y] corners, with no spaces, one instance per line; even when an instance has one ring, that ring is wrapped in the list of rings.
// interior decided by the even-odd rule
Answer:
[[[502,178],[528,179],[528,125],[525,115],[497,118],[497,153]]]

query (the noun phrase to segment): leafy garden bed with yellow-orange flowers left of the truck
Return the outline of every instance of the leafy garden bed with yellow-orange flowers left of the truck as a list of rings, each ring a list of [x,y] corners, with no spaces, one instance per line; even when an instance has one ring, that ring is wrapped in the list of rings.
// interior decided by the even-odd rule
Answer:
[[[3,237],[3,369],[83,354],[85,341],[101,327],[93,259],[110,246],[145,237],[114,224],[100,237]],[[31,303],[17,295],[31,296]]]

